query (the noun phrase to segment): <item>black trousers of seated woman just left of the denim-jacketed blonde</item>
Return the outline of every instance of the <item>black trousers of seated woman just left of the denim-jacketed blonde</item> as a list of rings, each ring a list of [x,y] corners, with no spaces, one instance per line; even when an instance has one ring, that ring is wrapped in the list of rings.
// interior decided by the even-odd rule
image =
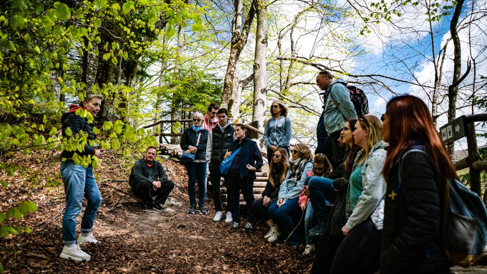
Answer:
[[[329,274],[333,258],[338,247],[343,241],[344,236],[335,236],[330,234],[330,226],[328,225],[325,233],[321,235],[316,245],[315,260],[311,268],[311,274]]]

